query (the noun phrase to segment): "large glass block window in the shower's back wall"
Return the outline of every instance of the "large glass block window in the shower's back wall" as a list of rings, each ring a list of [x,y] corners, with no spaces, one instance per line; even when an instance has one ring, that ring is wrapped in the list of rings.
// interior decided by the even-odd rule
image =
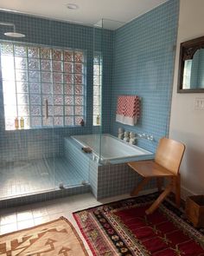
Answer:
[[[85,119],[85,52],[0,43],[6,129],[78,126]]]

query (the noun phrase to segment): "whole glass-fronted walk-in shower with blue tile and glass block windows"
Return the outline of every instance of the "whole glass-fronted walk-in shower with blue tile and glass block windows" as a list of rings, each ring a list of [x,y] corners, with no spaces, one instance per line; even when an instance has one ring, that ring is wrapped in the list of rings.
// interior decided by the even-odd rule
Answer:
[[[105,23],[114,22],[0,13],[0,201],[89,191],[94,163],[85,171],[70,136],[98,136],[100,152],[109,133],[113,32]],[[5,36],[1,23],[25,37]]]

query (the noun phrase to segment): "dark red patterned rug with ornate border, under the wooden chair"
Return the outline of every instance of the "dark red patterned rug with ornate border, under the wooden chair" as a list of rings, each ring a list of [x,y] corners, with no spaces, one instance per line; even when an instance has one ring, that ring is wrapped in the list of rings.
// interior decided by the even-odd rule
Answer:
[[[204,232],[196,230],[165,200],[155,213],[145,210],[157,194],[112,202],[73,217],[93,255],[204,255]]]

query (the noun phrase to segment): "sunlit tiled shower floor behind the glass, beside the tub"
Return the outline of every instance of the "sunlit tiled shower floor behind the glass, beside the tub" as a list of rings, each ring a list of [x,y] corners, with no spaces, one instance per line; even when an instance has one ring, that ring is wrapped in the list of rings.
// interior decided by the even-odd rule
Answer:
[[[64,157],[15,161],[0,168],[0,199],[81,184],[85,180]]]

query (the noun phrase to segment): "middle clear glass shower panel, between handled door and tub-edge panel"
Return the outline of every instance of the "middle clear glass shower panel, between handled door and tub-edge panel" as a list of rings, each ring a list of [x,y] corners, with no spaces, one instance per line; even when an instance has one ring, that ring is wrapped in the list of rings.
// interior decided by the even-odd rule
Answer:
[[[92,27],[52,21],[54,187],[83,187],[88,155],[72,136],[90,134]]]

